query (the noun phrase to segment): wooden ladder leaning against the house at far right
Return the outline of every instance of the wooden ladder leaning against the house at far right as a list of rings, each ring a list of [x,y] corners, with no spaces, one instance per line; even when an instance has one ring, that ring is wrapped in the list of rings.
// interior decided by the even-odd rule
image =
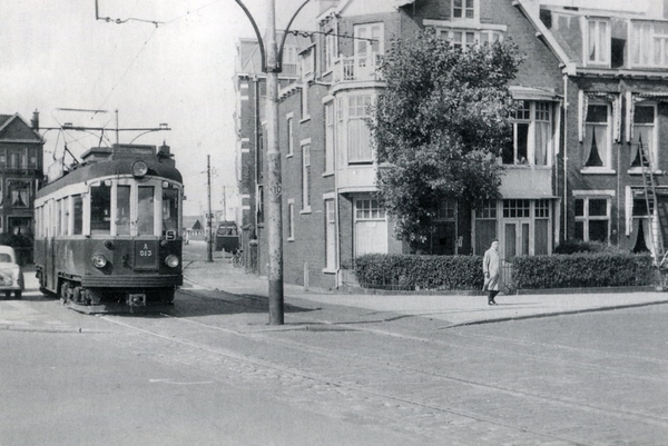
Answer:
[[[658,268],[667,268],[668,259],[666,249],[664,248],[664,236],[661,234],[661,218],[659,210],[659,201],[657,199],[657,185],[655,180],[654,166],[649,148],[639,141],[638,150],[640,153],[640,167],[642,170],[642,186],[645,190],[645,205],[647,208],[647,217],[649,219],[649,228],[651,234],[651,245],[654,250],[655,266]],[[664,265],[666,264],[666,265]]]

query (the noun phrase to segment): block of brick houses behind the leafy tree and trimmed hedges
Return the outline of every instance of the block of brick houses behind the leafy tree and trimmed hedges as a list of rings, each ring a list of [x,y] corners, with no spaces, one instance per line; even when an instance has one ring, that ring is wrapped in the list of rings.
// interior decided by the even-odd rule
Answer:
[[[668,170],[658,149],[668,138],[664,21],[537,0],[321,0],[320,7],[317,32],[298,47],[299,69],[281,90],[286,283],[334,288],[360,255],[411,252],[374,196],[377,166],[364,120],[384,89],[376,67],[391,39],[425,27],[464,50],[511,39],[525,60],[509,86],[519,108],[513,145],[499,159],[502,199],[478,210],[441,204],[424,251],[482,254],[494,238],[505,260],[550,255],[567,238],[627,249],[642,248],[640,240],[651,249],[638,147],[642,139],[657,174]],[[656,177],[650,210],[658,214],[668,210],[668,180]],[[262,257],[266,239],[257,221]]]

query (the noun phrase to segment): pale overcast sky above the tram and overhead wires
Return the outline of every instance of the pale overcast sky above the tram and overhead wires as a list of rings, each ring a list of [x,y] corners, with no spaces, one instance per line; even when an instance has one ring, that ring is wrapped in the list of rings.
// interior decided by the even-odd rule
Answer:
[[[97,1],[100,17],[161,23],[96,20],[96,0],[0,0],[0,113],[18,112],[29,121],[32,111],[39,110],[42,127],[71,122],[111,130],[115,110],[121,128],[166,122],[171,131],[148,133],[135,142],[161,145],[165,140],[171,146],[185,177],[187,215],[206,211],[206,160],[210,155],[213,208],[222,209],[223,187],[230,194],[236,186],[234,57],[238,38],[254,37],[248,20],[234,0]],[[281,29],[303,0],[275,1]],[[605,4],[637,10],[647,1],[661,0],[607,0]],[[266,0],[244,3],[264,32]],[[301,17],[308,16],[307,9]],[[304,26],[297,22],[293,29]],[[61,110],[66,108],[109,112]],[[107,136],[115,142],[112,131]],[[130,142],[135,136],[121,133],[120,142]],[[46,166],[53,153],[62,156],[65,143],[80,156],[99,138],[58,131],[45,137]]]

